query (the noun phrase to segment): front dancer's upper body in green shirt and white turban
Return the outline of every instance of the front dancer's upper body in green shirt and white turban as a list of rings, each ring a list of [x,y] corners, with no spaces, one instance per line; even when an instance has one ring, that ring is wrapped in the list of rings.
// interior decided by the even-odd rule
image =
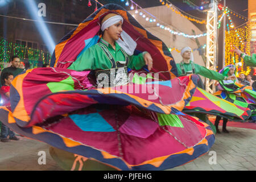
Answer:
[[[145,51],[139,55],[133,55],[137,44],[129,35],[122,32],[122,23],[122,16],[114,13],[106,15],[101,22],[103,36],[100,42],[86,49],[68,69],[95,70],[96,77],[104,71],[103,73],[108,74],[109,78],[110,72],[114,71],[115,78],[118,78],[115,86],[127,83],[127,78],[118,76],[118,73],[127,75],[127,67],[138,70],[147,65],[150,71],[153,63],[150,53]]]

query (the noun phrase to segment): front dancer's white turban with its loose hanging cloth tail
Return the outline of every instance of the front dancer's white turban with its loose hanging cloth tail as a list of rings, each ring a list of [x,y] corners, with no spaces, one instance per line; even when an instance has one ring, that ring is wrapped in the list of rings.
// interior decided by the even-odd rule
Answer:
[[[101,24],[101,30],[104,31],[106,28],[120,21],[122,21],[123,23],[122,16],[120,15],[112,16]],[[123,40],[119,38],[116,42],[120,47],[122,47],[122,49],[127,53],[127,55],[129,56],[133,55],[134,50],[137,47],[137,43],[125,31],[121,32],[121,37]]]

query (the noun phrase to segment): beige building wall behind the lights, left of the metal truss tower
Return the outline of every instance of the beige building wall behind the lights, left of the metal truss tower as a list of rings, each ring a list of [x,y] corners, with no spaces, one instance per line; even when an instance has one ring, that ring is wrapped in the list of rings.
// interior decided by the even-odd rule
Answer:
[[[167,6],[156,6],[156,7],[148,7],[144,9],[148,11],[150,14],[153,14],[157,17],[156,21],[164,26],[171,28],[176,32],[184,32],[188,35],[199,35],[203,34],[199,28],[195,26],[190,20],[183,18],[179,14],[176,14],[174,11],[169,9]],[[206,36],[201,36],[200,38],[193,39],[187,38],[182,35],[171,34],[168,30],[164,30],[159,26],[156,26],[156,23],[152,23],[150,21],[146,21],[143,16],[139,15],[140,11],[136,14],[135,10],[129,11],[131,15],[144,27],[147,31],[151,32],[152,35],[156,36],[160,40],[162,40],[168,48],[171,48],[172,56],[176,63],[180,63],[182,57],[180,55],[180,51],[184,47],[191,47],[192,49],[198,49],[201,46],[206,44]],[[143,13],[143,11],[142,11]],[[205,61],[203,56],[200,55],[199,51],[193,51],[194,61],[199,65],[205,66]]]

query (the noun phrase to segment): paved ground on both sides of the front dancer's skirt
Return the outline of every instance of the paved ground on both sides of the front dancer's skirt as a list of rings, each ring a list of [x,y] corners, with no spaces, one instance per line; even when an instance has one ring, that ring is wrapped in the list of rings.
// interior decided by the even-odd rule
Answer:
[[[205,154],[193,162],[169,170],[256,171],[256,130],[236,127],[228,127],[228,130],[229,134],[217,134],[216,142],[210,148],[210,151],[216,152],[216,164],[209,164],[212,155]],[[0,142],[0,170],[62,170],[51,158],[48,149],[48,144],[24,137],[20,137],[19,141]],[[46,165],[38,164],[39,151],[46,152]]]

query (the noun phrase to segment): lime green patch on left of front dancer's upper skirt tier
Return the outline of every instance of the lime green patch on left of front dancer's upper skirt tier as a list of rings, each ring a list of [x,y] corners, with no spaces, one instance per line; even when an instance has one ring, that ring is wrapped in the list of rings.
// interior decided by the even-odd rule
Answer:
[[[63,90],[75,90],[74,80],[70,76],[67,79],[62,80],[60,82],[49,82],[46,85],[52,93],[60,92]]]

